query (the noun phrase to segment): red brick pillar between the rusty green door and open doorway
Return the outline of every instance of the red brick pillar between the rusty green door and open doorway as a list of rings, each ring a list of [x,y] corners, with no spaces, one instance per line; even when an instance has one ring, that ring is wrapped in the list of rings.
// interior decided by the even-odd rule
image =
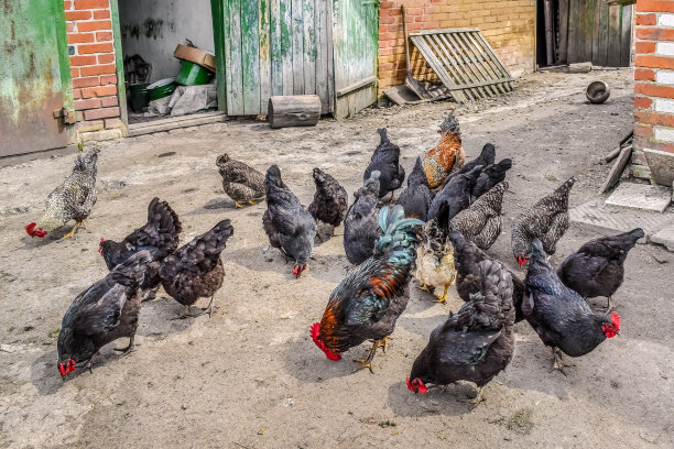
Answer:
[[[110,0],[65,0],[64,7],[78,139],[121,136]]]

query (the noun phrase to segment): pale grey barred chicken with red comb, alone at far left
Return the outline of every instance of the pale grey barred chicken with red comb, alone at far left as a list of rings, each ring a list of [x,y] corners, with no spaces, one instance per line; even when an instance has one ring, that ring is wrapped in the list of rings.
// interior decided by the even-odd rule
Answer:
[[[79,226],[86,227],[85,220],[96,204],[98,153],[99,150],[94,149],[84,156],[77,155],[73,173],[47,196],[44,216],[39,222],[25,227],[29,236],[43,238],[47,232],[57,231],[75,220],[70,232],[63,236],[63,239],[67,239],[75,234]]]

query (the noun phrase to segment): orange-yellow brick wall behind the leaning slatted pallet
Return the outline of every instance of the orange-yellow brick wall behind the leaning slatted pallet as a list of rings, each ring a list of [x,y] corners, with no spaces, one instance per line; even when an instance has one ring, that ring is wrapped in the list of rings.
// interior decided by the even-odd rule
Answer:
[[[379,88],[404,83],[405,51],[400,6],[407,33],[447,28],[479,28],[511,72],[532,70],[535,56],[535,0],[383,0],[379,12]],[[415,77],[430,74],[411,46]]]

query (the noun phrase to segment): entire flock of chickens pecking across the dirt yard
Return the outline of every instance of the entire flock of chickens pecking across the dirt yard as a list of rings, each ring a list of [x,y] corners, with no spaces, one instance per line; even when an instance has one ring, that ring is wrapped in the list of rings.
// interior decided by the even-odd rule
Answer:
[[[216,161],[222,187],[237,208],[265,199],[262,227],[270,245],[295,261],[293,275],[308,269],[314,242],[334,236],[344,222],[344,248],[352,264],[331,293],[319,322],[311,327],[314,343],[330,360],[366,340],[373,342],[360,369],[387,340],[410,299],[414,276],[423,289],[434,289],[445,302],[456,284],[465,302],[433,330],[426,348],[412,365],[407,387],[424,393],[431,386],[470,381],[482,387],[512,359],[513,325],[526,320],[552,349],[553,368],[563,371],[562,353],[579,357],[620,331],[620,317],[610,311],[610,297],[623,280],[628,252],[643,237],[634,229],[585,243],[557,271],[547,254],[569,226],[568,197],[574,178],[523,210],[512,221],[513,256],[526,266],[522,280],[486,251],[501,234],[501,207],[508,190],[506,175],[512,161],[496,162],[496,149],[485,145],[466,162],[459,123],[452,113],[441,124],[438,144],[418,157],[403,187],[405,171],[400,147],[385,129],[363,174],[363,185],[349,206],[347,191],[329,174],[314,168],[316,193],[304,207],[272,165],[267,174],[230,158]],[[84,225],[96,202],[98,151],[78,155],[73,174],[46,199],[46,211],[26,232],[45,237],[70,219],[70,237]],[[322,231],[327,229],[327,231]],[[91,359],[105,344],[133,337],[141,303],[162,286],[185,306],[178,318],[214,309],[225,270],[220,253],[233,234],[230,220],[178,248],[182,225],[166,201],[154,198],[148,222],[120,242],[101,239],[109,273],[80,293],[66,311],[58,336],[58,371],[65,380],[76,368],[91,369]],[[585,298],[606,296],[606,313],[595,313]],[[206,309],[192,306],[210,297]]]

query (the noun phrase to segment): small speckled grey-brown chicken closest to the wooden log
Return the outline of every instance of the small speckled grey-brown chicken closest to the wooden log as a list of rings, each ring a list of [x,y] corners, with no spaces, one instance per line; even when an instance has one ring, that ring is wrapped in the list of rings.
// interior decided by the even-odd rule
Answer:
[[[247,164],[235,161],[225,153],[216,160],[218,172],[222,176],[222,189],[236,207],[243,202],[254,205],[264,197],[264,175]]]

